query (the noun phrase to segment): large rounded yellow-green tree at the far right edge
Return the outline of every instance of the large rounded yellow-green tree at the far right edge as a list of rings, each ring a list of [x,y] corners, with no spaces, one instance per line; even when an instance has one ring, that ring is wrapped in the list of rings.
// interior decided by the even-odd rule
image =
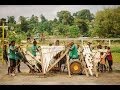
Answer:
[[[120,7],[97,12],[94,27],[99,37],[120,37]]]

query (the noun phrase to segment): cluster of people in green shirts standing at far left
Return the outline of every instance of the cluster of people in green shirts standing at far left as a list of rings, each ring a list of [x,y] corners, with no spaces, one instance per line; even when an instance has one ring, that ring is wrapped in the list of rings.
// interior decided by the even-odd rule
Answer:
[[[20,73],[20,59],[21,56],[18,53],[19,46],[15,46],[15,41],[11,41],[7,49],[7,45],[4,45],[3,57],[8,65],[8,74],[15,76],[15,70],[17,68],[18,73]]]

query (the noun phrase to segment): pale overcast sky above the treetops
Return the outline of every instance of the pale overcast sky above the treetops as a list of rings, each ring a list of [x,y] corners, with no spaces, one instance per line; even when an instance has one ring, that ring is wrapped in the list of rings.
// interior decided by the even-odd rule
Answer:
[[[91,13],[95,14],[104,8],[116,6],[120,5],[0,5],[0,18],[15,16],[17,20],[19,16],[31,17],[33,14],[36,16],[43,14],[45,18],[52,20],[61,10],[74,13],[82,9],[89,9]]]

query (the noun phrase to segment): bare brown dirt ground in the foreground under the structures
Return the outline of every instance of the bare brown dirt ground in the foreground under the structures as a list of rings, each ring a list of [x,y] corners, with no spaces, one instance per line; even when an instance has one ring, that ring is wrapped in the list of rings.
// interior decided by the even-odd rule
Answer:
[[[22,73],[15,77],[7,74],[7,66],[0,63],[0,85],[120,85],[120,63],[114,63],[113,72],[99,73],[99,77],[72,75],[68,73],[30,74],[29,68],[21,63]]]

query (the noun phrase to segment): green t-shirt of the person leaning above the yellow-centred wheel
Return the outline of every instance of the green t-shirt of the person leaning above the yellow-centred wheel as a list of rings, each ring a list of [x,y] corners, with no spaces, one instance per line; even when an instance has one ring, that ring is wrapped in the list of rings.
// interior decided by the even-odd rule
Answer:
[[[77,46],[74,44],[71,47],[71,50],[69,52],[69,57],[70,59],[78,59],[78,50],[77,50]]]

